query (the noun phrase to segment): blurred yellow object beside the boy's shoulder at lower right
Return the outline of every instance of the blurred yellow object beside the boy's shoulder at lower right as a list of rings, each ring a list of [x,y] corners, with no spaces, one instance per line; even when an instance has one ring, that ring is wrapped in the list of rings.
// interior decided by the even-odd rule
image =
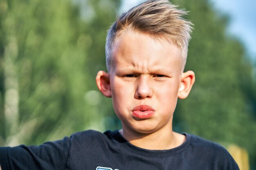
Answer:
[[[229,145],[227,150],[235,159],[240,170],[249,170],[249,156],[247,150],[236,145]]]

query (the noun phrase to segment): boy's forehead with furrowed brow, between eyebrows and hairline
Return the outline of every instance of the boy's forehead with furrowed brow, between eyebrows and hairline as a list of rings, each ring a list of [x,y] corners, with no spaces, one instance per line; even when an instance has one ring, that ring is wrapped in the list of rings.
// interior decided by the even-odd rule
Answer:
[[[124,31],[113,45],[111,67],[181,70],[182,50],[144,33]],[[111,68],[111,69],[112,69]]]

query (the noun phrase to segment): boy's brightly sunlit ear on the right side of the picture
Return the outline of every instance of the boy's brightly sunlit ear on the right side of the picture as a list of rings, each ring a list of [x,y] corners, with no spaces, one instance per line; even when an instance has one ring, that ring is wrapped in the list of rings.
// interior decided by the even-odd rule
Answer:
[[[180,89],[178,92],[178,97],[180,99],[185,99],[189,95],[189,92],[191,91],[194,82],[195,73],[193,71],[187,71],[185,73],[182,73]]]

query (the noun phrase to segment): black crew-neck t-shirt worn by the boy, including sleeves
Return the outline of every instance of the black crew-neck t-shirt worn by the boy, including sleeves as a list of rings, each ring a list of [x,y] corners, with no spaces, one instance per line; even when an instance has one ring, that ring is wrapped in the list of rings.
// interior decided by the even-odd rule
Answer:
[[[2,170],[238,170],[222,146],[186,135],[170,150],[146,150],[130,144],[118,130],[77,132],[40,146],[0,148]]]

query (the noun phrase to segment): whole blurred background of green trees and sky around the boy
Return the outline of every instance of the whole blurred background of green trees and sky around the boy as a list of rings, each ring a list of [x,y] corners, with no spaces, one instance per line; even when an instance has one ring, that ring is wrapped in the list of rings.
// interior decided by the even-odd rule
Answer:
[[[0,0],[0,146],[121,128],[95,76],[106,71],[107,29],[139,2]],[[236,15],[225,11],[232,6],[219,0],[171,2],[190,11],[187,19],[195,24],[185,69],[195,72],[196,82],[189,97],[178,100],[174,130],[241,148],[256,170],[255,27],[234,29]],[[237,7],[234,13],[248,13]],[[255,24],[255,17],[253,10],[244,20]]]

